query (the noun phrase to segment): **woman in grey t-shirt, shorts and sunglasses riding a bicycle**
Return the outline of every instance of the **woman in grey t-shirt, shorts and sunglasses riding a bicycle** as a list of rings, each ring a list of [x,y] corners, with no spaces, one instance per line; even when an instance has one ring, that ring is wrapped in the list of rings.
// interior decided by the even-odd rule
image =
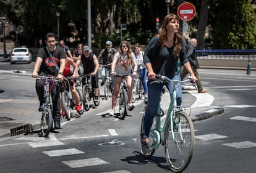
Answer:
[[[132,63],[134,63],[134,69],[132,69]],[[130,47],[129,42],[122,41],[119,45],[119,49],[116,54],[114,54],[113,62],[111,65],[111,74],[116,75],[118,73],[136,75],[137,71],[137,61],[134,53]],[[132,76],[126,76],[126,84],[128,89],[128,100],[129,107],[128,110],[133,110],[134,105],[132,105]],[[122,82],[122,78],[120,76],[115,76],[114,78],[114,91],[112,97],[112,109],[109,113],[110,116],[114,115],[114,107],[116,106],[117,95],[119,93],[120,84]]]

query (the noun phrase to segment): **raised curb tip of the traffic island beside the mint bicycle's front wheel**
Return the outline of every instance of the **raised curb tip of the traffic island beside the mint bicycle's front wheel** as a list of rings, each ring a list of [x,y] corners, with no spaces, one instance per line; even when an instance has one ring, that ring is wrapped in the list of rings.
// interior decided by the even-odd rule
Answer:
[[[200,120],[203,120],[203,119],[207,119],[207,118],[211,118],[213,116],[220,115],[223,112],[224,112],[223,108],[220,108],[220,107],[219,108],[213,108],[211,110],[204,111],[203,113],[191,116],[191,120],[192,121],[200,121]]]

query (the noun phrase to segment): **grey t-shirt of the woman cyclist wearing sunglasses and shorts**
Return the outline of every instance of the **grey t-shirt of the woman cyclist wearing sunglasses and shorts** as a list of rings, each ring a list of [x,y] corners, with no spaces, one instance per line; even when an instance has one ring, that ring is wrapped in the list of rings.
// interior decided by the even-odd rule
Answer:
[[[122,57],[121,61],[119,60],[119,57],[120,57],[119,52],[114,54],[113,58],[117,60],[115,72],[124,73],[124,74],[133,73],[132,64],[127,61],[127,55],[121,55]],[[135,60],[136,60],[136,57],[132,52],[132,61],[135,61]]]

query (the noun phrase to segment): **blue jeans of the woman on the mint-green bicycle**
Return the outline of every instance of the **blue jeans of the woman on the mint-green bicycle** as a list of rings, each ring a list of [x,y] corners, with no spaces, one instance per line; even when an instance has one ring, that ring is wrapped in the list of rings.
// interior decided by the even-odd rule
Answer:
[[[181,80],[181,77],[179,74],[175,74],[173,77],[173,80]],[[170,93],[170,97],[173,94],[173,82],[170,82],[169,84],[167,82],[165,83],[152,83],[150,84],[152,80],[148,79],[148,105],[147,110],[145,110],[145,117],[144,117],[144,124],[143,124],[143,138],[148,138],[150,133],[150,128],[153,123],[153,119],[158,111],[158,106],[160,104],[161,99],[161,90],[163,89],[163,86],[165,85]],[[182,102],[182,88],[181,83],[179,82],[176,85],[176,93],[177,93],[177,105],[181,105]]]

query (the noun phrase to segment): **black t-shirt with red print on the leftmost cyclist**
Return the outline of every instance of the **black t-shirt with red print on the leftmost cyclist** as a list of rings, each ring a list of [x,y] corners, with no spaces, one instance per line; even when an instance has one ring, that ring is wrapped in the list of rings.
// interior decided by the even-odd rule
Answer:
[[[55,62],[58,64],[58,66],[60,65],[60,63],[59,63],[60,59],[66,59],[66,53],[62,47],[56,46],[56,49],[53,52],[51,52],[51,54],[53,55],[53,58],[54,58]],[[43,59],[43,62],[41,63],[40,70],[39,70],[38,74],[43,72],[46,74],[57,76],[59,71],[57,70],[56,66],[54,65],[53,61],[51,60],[51,56],[48,54],[46,47],[41,48],[38,51],[38,54],[36,57],[40,57]]]

